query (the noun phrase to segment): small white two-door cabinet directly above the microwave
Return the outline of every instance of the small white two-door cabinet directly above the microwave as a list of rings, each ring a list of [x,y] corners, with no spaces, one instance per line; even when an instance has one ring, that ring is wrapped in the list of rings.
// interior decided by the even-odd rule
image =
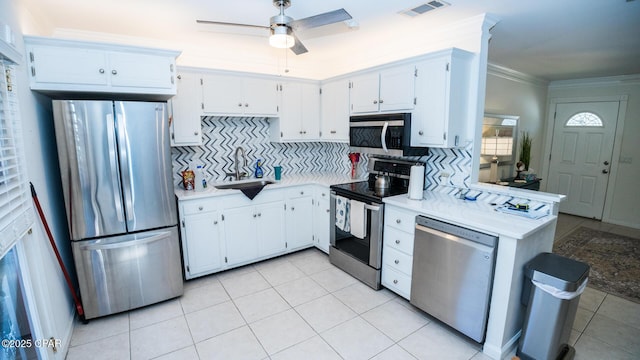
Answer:
[[[402,65],[353,77],[351,113],[412,110],[415,71],[414,65]]]

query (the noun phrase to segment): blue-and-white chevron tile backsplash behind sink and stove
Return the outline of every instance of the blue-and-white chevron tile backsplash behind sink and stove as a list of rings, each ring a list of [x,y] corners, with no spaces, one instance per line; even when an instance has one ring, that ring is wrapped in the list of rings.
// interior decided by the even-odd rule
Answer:
[[[193,161],[204,166],[210,181],[222,181],[226,172],[234,171],[234,154],[238,146],[246,152],[248,166],[242,171],[253,175],[255,162],[262,159],[264,175],[273,176],[273,167],[280,165],[283,174],[330,171],[348,174],[349,146],[344,143],[272,143],[267,118],[219,117],[202,118],[203,145],[172,148],[173,180],[178,186],[180,173]],[[427,165],[425,189],[455,193],[466,188],[471,176],[472,145],[462,149],[429,149],[429,155],[414,160]],[[363,154],[358,164],[359,174],[366,173],[368,157]],[[441,177],[442,172],[450,174]]]

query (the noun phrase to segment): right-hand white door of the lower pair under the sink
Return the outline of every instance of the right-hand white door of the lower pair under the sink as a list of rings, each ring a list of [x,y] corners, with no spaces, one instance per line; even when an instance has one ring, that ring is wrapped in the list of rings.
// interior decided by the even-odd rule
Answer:
[[[271,256],[286,250],[284,238],[284,202],[256,206],[258,256]]]

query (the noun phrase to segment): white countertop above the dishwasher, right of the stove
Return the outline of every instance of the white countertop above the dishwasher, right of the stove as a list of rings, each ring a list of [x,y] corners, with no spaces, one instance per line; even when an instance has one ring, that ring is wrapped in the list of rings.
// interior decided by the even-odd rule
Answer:
[[[425,191],[422,200],[411,200],[405,194],[384,198],[384,202],[434,219],[515,239],[523,239],[557,218],[547,215],[536,220],[528,219],[495,211],[496,206],[482,201],[461,200],[431,191]]]

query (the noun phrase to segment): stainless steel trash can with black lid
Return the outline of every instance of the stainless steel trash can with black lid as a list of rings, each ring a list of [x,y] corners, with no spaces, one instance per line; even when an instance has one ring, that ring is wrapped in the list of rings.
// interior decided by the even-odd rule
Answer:
[[[541,253],[525,265],[522,304],[527,307],[518,355],[523,360],[573,359],[568,344],[589,265]]]

